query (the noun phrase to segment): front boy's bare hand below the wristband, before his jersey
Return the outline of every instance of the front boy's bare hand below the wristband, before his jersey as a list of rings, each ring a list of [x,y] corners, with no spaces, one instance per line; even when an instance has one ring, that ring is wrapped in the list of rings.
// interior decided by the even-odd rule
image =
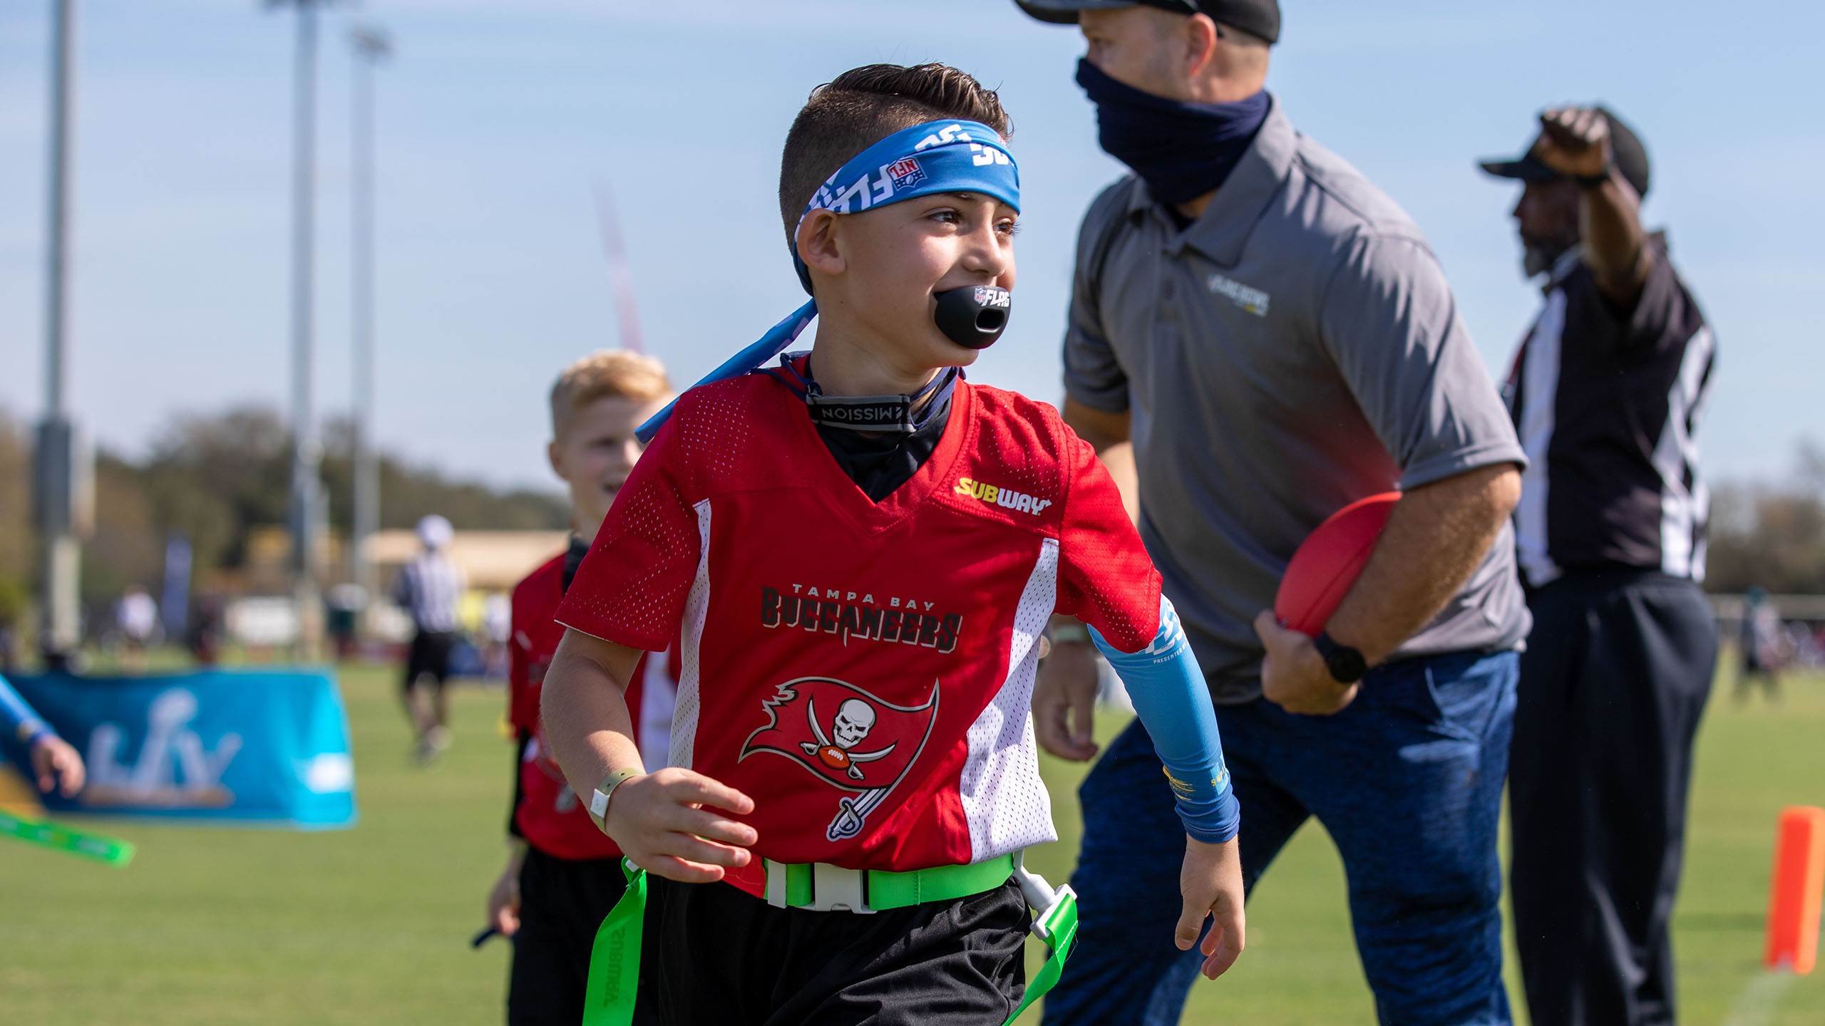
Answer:
[[[754,800],[701,772],[662,769],[628,778],[608,803],[604,825],[635,865],[683,884],[714,884],[723,867],[754,860],[759,834],[717,812],[754,812]]]

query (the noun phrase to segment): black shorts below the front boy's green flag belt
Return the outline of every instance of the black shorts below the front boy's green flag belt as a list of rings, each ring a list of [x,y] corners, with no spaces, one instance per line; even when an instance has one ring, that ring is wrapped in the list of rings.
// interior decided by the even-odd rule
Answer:
[[[874,915],[648,880],[641,982],[664,1026],[1002,1026],[1026,989],[1013,880]]]

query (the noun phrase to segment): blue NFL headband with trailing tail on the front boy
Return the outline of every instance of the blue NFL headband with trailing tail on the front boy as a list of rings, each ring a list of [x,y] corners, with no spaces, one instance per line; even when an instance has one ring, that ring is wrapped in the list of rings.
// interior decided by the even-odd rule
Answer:
[[[799,221],[805,221],[805,215],[814,210],[858,214],[936,192],[991,195],[1013,206],[1018,214],[1020,168],[1007,152],[1007,144],[1002,142],[1000,133],[987,124],[975,120],[914,124],[881,139],[843,164],[841,170],[818,186],[818,194],[805,204],[805,214],[799,214]],[[798,232],[794,232],[792,241],[792,267],[798,268],[805,292],[810,292],[810,272],[798,256],[796,236]],[[739,378],[772,363],[816,316],[818,299],[812,299],[774,325],[757,341],[725,360],[721,367],[704,374],[692,387]],[[666,409],[655,413],[633,434],[641,442],[652,442],[659,427],[672,416],[672,407],[675,405],[677,400],[666,403]]]

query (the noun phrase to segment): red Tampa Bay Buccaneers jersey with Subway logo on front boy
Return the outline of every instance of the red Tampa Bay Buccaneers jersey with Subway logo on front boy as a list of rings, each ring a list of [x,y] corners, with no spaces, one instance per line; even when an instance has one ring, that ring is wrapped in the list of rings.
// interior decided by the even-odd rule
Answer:
[[[1159,628],[1090,445],[1013,393],[951,402],[876,504],[772,376],[686,393],[558,608],[630,648],[683,624],[668,761],[754,798],[757,854],[925,869],[1057,840],[1027,710],[1046,619],[1124,652]]]

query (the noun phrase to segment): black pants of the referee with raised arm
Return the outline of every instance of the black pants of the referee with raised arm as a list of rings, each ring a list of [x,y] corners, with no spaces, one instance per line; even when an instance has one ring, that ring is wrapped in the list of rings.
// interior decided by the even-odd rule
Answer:
[[[1509,754],[1515,942],[1535,1026],[1661,1026],[1692,736],[1717,663],[1697,584],[1639,570],[1533,593]]]

